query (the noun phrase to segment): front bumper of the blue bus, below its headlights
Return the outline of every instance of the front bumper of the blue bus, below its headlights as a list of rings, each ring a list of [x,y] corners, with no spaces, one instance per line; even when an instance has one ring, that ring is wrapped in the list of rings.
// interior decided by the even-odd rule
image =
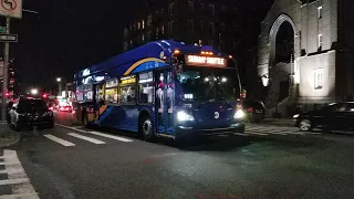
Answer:
[[[198,129],[187,126],[177,126],[177,136],[212,136],[212,135],[230,135],[232,133],[244,133],[244,123],[232,124],[223,128]]]

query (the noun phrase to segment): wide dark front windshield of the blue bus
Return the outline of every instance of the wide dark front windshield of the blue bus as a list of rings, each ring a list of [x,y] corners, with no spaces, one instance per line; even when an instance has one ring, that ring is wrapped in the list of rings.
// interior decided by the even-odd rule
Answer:
[[[240,96],[235,69],[186,66],[177,74],[181,100],[235,101]]]

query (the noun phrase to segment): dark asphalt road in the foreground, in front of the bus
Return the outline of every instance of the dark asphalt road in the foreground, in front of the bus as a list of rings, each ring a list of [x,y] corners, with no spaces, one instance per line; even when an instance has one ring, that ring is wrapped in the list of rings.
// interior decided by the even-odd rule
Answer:
[[[17,153],[40,198],[354,198],[354,136],[277,129],[177,147],[56,126],[23,132],[7,153]]]

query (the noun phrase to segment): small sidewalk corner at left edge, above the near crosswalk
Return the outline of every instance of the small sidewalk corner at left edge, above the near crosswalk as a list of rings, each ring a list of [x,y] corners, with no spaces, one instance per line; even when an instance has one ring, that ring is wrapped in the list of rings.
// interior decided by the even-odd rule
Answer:
[[[13,145],[20,140],[20,134],[12,130],[7,123],[0,122],[0,147]]]

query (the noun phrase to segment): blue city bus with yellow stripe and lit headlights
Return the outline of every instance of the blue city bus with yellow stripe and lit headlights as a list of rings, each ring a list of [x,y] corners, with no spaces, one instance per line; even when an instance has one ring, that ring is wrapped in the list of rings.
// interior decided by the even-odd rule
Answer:
[[[232,56],[212,46],[149,42],[74,75],[76,119],[155,137],[243,133]]]

